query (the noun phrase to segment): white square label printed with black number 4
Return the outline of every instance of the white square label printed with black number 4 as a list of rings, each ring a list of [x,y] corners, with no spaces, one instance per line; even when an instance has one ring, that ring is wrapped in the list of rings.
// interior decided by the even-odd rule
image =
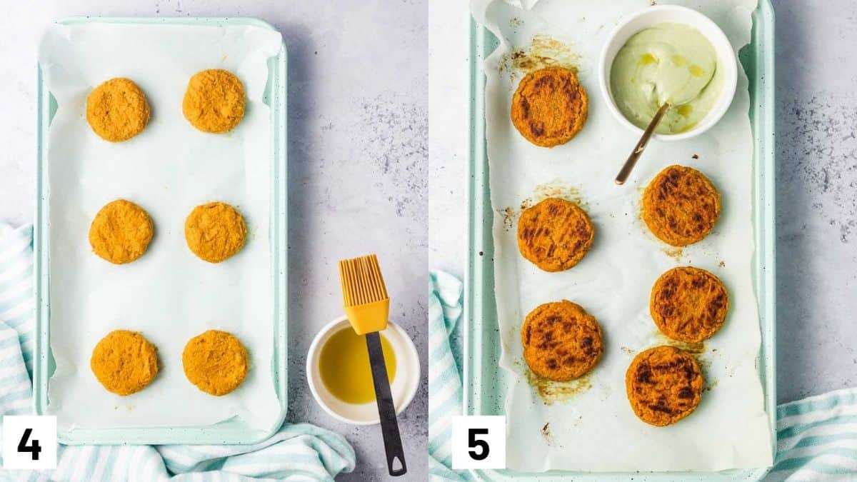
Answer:
[[[3,417],[3,468],[57,468],[57,417]]]

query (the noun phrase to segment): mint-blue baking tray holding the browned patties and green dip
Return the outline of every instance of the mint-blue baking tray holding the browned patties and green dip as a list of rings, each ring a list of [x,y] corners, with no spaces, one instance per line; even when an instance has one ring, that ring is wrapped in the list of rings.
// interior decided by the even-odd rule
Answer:
[[[753,209],[756,251],[753,280],[758,299],[762,347],[758,357],[764,389],[764,408],[776,447],[776,232],[774,191],[774,9],[760,0],[752,14],[752,39],[740,51],[740,62],[750,79],[750,120],[755,138],[753,155]],[[485,76],[482,60],[497,47],[497,39],[470,21],[470,165],[467,199],[470,211],[468,263],[464,269],[464,410],[467,415],[502,415],[508,376],[499,367],[500,332],[494,301],[494,212],[488,192],[488,157],[485,147]],[[480,480],[524,479],[530,482],[570,480],[593,482],[633,478],[638,481],[758,480],[768,467],[718,473],[580,473],[550,471],[518,473],[511,470],[476,470]]]

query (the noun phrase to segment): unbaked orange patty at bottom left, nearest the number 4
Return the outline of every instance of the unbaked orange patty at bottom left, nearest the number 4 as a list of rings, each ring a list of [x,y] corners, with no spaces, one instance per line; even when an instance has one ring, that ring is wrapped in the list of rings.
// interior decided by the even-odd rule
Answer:
[[[105,389],[131,395],[158,375],[158,350],[142,334],[117,329],[95,346],[89,366]]]

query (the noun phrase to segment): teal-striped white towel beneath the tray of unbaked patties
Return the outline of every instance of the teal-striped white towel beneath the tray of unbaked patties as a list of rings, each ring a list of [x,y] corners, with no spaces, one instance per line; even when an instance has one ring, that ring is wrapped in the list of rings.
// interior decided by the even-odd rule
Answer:
[[[32,413],[33,303],[33,230],[0,224],[0,415]],[[332,481],[354,464],[344,437],[285,424],[255,445],[60,445],[56,470],[0,470],[0,480]]]

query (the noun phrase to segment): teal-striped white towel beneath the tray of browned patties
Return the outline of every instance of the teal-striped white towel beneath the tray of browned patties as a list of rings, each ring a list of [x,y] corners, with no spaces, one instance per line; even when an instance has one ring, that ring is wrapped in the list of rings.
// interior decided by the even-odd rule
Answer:
[[[462,313],[462,284],[430,273],[428,302],[428,454],[433,481],[470,480],[452,471],[452,415],[462,413],[461,368],[453,328]],[[466,329],[466,328],[465,328]],[[452,336],[451,336],[452,335]],[[777,447],[765,482],[857,481],[857,389],[842,389],[776,408]]]

